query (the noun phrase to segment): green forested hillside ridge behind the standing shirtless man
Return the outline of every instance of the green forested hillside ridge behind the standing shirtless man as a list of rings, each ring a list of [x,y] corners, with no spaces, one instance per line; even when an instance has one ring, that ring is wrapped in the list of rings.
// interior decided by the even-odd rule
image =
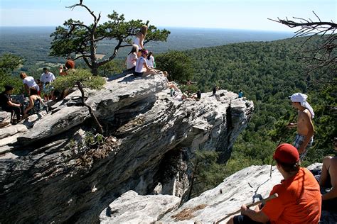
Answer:
[[[213,86],[238,92],[254,101],[255,112],[246,130],[235,142],[232,157],[224,168],[229,175],[252,164],[270,164],[279,142],[292,143],[295,130],[285,128],[296,122],[297,111],[288,96],[301,92],[316,113],[314,145],[302,164],[322,162],[333,155],[336,126],[336,71],[309,71],[304,58],[312,56],[322,39],[291,38],[188,50],[196,68],[196,89],[212,91]],[[216,172],[214,172],[215,174]]]

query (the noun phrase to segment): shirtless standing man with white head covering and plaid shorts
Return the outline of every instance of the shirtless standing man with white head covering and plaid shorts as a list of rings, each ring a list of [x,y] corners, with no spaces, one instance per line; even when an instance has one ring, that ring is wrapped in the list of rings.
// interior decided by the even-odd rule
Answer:
[[[310,104],[306,102],[306,94],[296,93],[289,96],[291,100],[291,106],[296,108],[299,113],[297,116],[297,123],[289,123],[289,128],[297,126],[297,134],[294,140],[294,147],[299,150],[299,157],[301,160],[306,156],[309,147],[311,147],[314,141],[314,125],[312,118],[314,118],[314,110]]]

